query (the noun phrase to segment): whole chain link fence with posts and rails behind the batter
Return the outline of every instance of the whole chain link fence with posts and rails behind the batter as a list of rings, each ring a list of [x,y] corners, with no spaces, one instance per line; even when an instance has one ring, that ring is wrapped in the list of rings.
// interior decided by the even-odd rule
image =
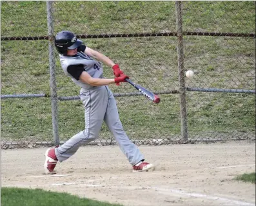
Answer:
[[[1,148],[62,143],[84,129],[79,87],[54,49],[61,30],[161,97],[155,105],[110,85],[136,144],[255,139],[253,1],[1,1],[1,15]],[[115,144],[105,124],[92,144]]]

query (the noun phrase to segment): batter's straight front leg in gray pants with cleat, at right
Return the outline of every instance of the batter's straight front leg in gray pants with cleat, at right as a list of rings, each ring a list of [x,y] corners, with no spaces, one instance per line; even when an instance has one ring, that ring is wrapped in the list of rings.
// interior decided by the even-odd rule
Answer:
[[[148,171],[149,169],[153,169],[153,164],[143,162],[143,154],[139,151],[137,145],[133,144],[124,132],[123,125],[119,119],[115,98],[113,97],[111,90],[108,89],[108,93],[108,107],[106,109],[104,121],[115,137],[121,151],[123,151],[130,164],[132,164],[133,171]]]

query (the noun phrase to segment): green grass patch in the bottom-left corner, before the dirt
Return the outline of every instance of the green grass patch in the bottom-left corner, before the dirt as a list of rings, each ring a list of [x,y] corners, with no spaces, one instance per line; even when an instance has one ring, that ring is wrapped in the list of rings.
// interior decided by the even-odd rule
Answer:
[[[119,204],[99,202],[95,200],[90,200],[88,198],[79,198],[79,196],[74,196],[68,193],[54,193],[51,191],[44,191],[43,189],[21,189],[17,187],[1,187],[1,205],[118,206]]]

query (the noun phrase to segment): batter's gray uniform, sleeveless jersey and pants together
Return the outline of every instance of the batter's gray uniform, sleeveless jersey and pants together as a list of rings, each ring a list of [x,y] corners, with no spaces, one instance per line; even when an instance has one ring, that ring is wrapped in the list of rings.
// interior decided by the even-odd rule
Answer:
[[[93,78],[103,78],[103,66],[90,56],[83,52],[77,53],[76,56],[60,55],[61,67],[72,81],[81,87],[80,97],[84,105],[85,128],[66,141],[63,145],[55,148],[55,154],[59,162],[70,158],[79,149],[80,146],[88,144],[90,141],[97,139],[103,121],[112,132],[117,144],[129,160],[130,164],[135,165],[144,160],[143,155],[133,144],[126,133],[119,119],[117,104],[113,97],[112,91],[108,86],[92,87],[86,83],[76,80],[74,76],[68,73],[69,65],[84,66],[84,71],[89,73]]]

